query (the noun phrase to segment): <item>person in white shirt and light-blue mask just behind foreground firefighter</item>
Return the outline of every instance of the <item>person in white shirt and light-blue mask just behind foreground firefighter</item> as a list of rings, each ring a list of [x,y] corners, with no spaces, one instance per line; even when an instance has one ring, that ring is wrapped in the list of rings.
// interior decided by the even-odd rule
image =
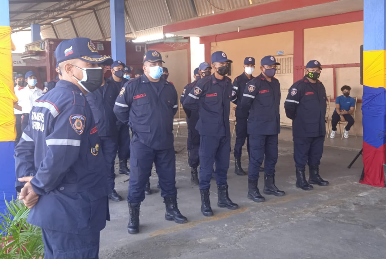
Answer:
[[[29,113],[31,112],[33,103],[43,94],[43,91],[36,87],[37,77],[33,71],[28,71],[25,78],[27,86],[21,90],[21,98],[18,102],[18,105],[22,107],[23,112],[22,131],[24,131],[28,125]]]

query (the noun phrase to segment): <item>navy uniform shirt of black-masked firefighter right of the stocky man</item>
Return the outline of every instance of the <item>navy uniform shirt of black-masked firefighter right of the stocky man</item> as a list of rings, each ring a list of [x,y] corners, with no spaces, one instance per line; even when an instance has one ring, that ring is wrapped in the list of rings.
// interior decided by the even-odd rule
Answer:
[[[237,98],[232,91],[230,78],[216,79],[215,75],[205,76],[185,96],[184,107],[199,112],[196,129],[200,135],[230,136],[230,101]]]

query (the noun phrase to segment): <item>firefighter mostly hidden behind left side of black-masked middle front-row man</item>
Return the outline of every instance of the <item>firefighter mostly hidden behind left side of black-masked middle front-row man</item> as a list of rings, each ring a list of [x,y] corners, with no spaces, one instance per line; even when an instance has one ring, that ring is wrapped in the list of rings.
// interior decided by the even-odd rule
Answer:
[[[191,89],[194,88],[201,76],[199,74],[199,68],[196,68],[193,72],[195,81],[187,84],[182,91],[180,102],[181,104],[185,101],[185,94],[190,93]],[[198,171],[197,167],[200,164],[200,158],[198,155],[198,150],[200,147],[200,134],[196,130],[196,124],[198,121],[198,112],[190,111],[183,108],[186,113],[186,123],[188,125],[188,139],[187,139],[187,150],[188,150],[188,164],[190,166],[190,183],[192,185],[198,185]]]

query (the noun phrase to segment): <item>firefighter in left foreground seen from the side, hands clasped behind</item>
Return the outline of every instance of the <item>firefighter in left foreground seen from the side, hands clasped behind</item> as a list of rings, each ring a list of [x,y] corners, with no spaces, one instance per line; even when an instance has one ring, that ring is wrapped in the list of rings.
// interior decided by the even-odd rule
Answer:
[[[41,227],[44,258],[98,258],[100,231],[109,220],[106,164],[87,93],[102,83],[89,38],[61,42],[55,50],[63,79],[37,99],[15,148],[20,200],[28,223]]]

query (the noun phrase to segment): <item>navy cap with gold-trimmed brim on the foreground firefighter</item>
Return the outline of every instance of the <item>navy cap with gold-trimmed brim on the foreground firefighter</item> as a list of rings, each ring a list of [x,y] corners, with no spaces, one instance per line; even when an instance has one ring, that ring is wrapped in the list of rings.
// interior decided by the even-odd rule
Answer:
[[[57,64],[74,58],[94,64],[105,63],[111,59],[109,56],[100,55],[91,39],[82,37],[66,39],[61,42],[56,47],[55,57]]]

